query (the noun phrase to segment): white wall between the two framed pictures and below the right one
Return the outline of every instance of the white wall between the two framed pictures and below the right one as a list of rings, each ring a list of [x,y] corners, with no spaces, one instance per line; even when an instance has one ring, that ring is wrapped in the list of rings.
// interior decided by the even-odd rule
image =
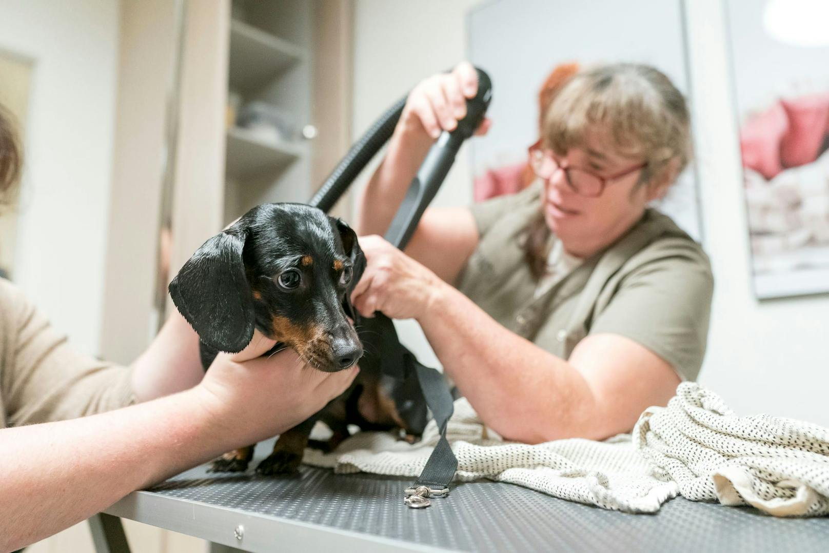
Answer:
[[[701,383],[738,413],[829,425],[829,297],[754,298],[725,9],[718,0],[687,4],[705,250],[715,274]]]

